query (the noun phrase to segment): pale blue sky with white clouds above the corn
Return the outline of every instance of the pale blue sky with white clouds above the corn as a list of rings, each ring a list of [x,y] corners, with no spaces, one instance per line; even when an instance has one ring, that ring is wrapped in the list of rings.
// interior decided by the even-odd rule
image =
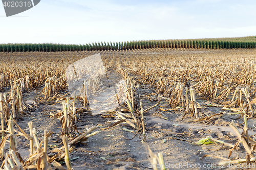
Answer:
[[[28,11],[5,17],[0,5],[0,43],[254,36],[255,9],[256,1],[236,0],[41,0]]]

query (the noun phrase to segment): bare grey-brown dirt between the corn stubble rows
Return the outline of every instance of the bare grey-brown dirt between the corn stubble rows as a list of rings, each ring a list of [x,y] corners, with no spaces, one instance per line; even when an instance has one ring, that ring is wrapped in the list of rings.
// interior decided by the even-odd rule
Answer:
[[[186,53],[189,52],[186,51]],[[193,55],[196,51],[190,51],[190,53]],[[208,51],[199,51],[198,53],[207,54]],[[221,52],[213,51],[212,53]],[[39,92],[41,89],[23,92],[24,100],[33,100],[37,106],[25,111],[21,115],[22,119],[18,120],[18,125],[29,134],[27,123],[32,120],[40,140],[44,138],[45,129],[52,130],[54,134],[51,136],[49,146],[50,149],[53,149],[57,144],[54,141],[60,140],[61,124],[60,120],[51,115],[59,112],[62,105],[61,103],[40,103],[39,97],[41,94]],[[2,89],[2,91],[5,91],[5,89]],[[60,91],[59,93],[66,94],[67,92],[68,90]],[[144,104],[143,108],[153,106],[157,102],[148,100],[145,94],[150,95],[154,92],[154,88],[148,89],[146,85],[141,84],[135,94],[136,100],[142,101]],[[82,106],[81,102],[78,100],[77,106]],[[201,106],[208,104],[208,101],[202,99],[198,99],[198,102]],[[126,107],[119,106],[117,110],[120,111],[122,108]],[[145,142],[142,142],[142,135],[139,137],[139,134],[134,139],[127,140],[133,138],[135,133],[122,130],[121,128],[134,130],[125,123],[121,123],[108,130],[100,130],[99,134],[90,137],[86,143],[75,145],[71,158],[76,159],[72,160],[72,167],[74,169],[105,170],[152,169],[147,157],[148,147],[150,147],[155,154],[163,153],[167,169],[249,169],[244,167],[219,167],[218,163],[222,160],[214,157],[206,157],[202,160],[204,155],[227,158],[229,147],[225,145],[194,144],[195,141],[206,136],[212,136],[235,144],[238,139],[229,127],[229,123],[231,120],[234,120],[242,132],[244,125],[241,124],[243,119],[236,119],[240,115],[225,115],[211,122],[194,122],[195,118],[186,116],[182,121],[179,121],[184,111],[160,111],[159,108],[168,109],[168,101],[162,100],[160,105],[145,113],[145,126],[147,129]],[[90,110],[87,111],[88,113],[81,114],[78,120],[77,128],[79,132],[86,130],[86,128],[92,125],[100,125],[103,128],[109,127],[114,123],[115,117],[91,116]],[[199,109],[199,116],[210,116],[220,112],[229,113],[229,111],[222,110],[221,107],[204,107]],[[256,134],[255,125],[255,118],[248,120],[249,135]],[[29,147],[29,141],[19,136],[17,149],[24,159],[29,156]],[[245,154],[243,146],[240,145],[240,150],[233,151],[231,158],[245,158]],[[65,163],[62,165],[66,167]]]

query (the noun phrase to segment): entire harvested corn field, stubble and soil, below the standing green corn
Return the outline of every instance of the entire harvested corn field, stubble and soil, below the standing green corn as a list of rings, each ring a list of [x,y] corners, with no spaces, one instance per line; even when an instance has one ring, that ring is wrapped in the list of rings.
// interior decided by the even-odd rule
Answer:
[[[98,53],[104,70],[92,63],[86,75],[93,79],[84,78],[76,63]],[[0,56],[1,168],[256,166],[252,48]],[[74,79],[67,72],[73,67]],[[101,94],[108,97],[100,101]]]

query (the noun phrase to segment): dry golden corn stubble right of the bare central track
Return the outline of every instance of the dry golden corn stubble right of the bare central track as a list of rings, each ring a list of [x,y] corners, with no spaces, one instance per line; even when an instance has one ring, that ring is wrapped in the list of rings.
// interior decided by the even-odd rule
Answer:
[[[226,115],[240,115],[238,118],[244,118],[246,125],[242,134],[239,134],[234,123],[230,124],[230,127],[238,136],[239,141],[237,143],[227,143],[210,136],[198,143],[222,143],[231,147],[228,159],[218,157],[225,160],[220,164],[254,162],[255,141],[248,136],[246,121],[248,118],[255,117],[256,111],[255,51],[243,51],[242,54],[237,51],[229,51],[223,52],[222,56],[215,56],[210,52],[206,56],[195,53],[191,56],[190,54],[186,55],[186,51],[168,54],[169,51],[167,50],[166,54],[159,53],[159,56],[154,57],[151,52],[153,53],[153,51],[147,50],[147,53],[143,55],[139,55],[136,50],[126,53],[126,56],[120,59],[120,63],[117,63],[124,68],[118,65],[118,71],[124,75],[124,78],[135,75],[133,78],[128,78],[128,80],[134,79],[133,81],[136,81],[139,85],[153,88],[153,95],[144,94],[145,99],[152,102],[165,101],[171,108],[159,108],[159,111],[183,110],[185,114],[181,120],[184,120],[188,115],[195,117],[194,122],[208,124]],[[126,104],[128,110],[132,113],[132,116],[130,116],[132,119],[121,116],[121,113],[117,115],[137,129],[138,133],[138,129],[144,120],[143,108],[141,107],[141,111],[133,108],[130,89],[132,87],[126,88]],[[134,103],[139,98],[135,99]],[[199,105],[197,100],[208,101],[208,104],[203,104],[203,107],[220,107],[222,110],[229,110],[233,113],[220,112],[211,116],[200,115],[200,109],[203,107]],[[141,124],[137,124],[139,115],[142,116]],[[144,129],[142,133],[144,136]],[[246,158],[229,159],[231,152],[238,149],[240,142],[247,152]],[[205,155],[204,157],[209,156]],[[153,164],[159,164],[156,160],[151,159],[150,161]]]

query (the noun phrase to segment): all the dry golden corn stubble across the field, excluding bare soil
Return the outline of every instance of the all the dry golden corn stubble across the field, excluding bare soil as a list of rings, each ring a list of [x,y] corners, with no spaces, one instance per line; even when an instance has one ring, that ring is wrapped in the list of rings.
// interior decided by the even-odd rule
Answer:
[[[232,114],[239,114],[241,115],[240,118],[246,116],[247,119],[255,117],[255,50],[219,50],[220,55],[218,55],[217,51],[172,49],[173,47],[201,48],[201,45],[202,48],[212,48],[212,46],[217,48],[217,43],[212,45],[212,43],[207,42],[204,40],[202,42],[195,41],[194,44],[193,41],[177,41],[177,46],[176,42],[137,42],[134,43],[135,47],[128,42],[125,45],[122,43],[123,46],[120,51],[116,48],[112,49],[111,46],[104,46],[105,50],[108,48],[111,51],[101,53],[103,63],[107,63],[104,64],[105,67],[114,68],[123,76],[125,81],[124,88],[119,89],[119,91],[123,91],[125,95],[125,103],[121,106],[126,108],[123,108],[122,112],[111,111],[111,115],[118,119],[118,122],[111,127],[120,123],[129,124],[135,129],[136,135],[143,134],[142,140],[146,142],[145,116],[148,111],[158,107],[160,103],[166,103],[166,106],[170,108],[158,108],[161,113],[169,110],[184,111],[182,121],[186,120],[187,116],[194,117],[195,122],[203,123],[214,122],[219,117]],[[211,47],[209,47],[210,44]],[[218,43],[219,48],[222,48],[221,45],[221,42]],[[155,48],[156,46],[161,48]],[[99,49],[101,48],[99,46]],[[143,48],[146,49],[142,50]],[[99,133],[99,131],[93,132],[99,128],[98,126],[79,133],[76,124],[79,115],[85,112],[84,109],[88,109],[89,93],[95,93],[101,89],[101,79],[84,82],[82,97],[76,95],[70,97],[69,93],[59,93],[67,89],[66,67],[97,52],[82,51],[76,53],[79,55],[74,54],[74,52],[26,52],[22,53],[23,57],[20,57],[20,53],[17,52],[4,53],[1,57],[0,85],[1,88],[11,87],[9,92],[0,93],[2,128],[0,153],[4,157],[2,167],[6,169],[26,169],[28,167],[47,169],[52,164],[62,169],[63,167],[58,161],[65,160],[70,169],[72,166],[70,165],[69,152],[72,151],[74,144],[84,142],[89,137]],[[157,55],[155,55],[156,53]],[[30,56],[34,57],[31,58]],[[17,65],[16,59],[23,62]],[[24,112],[36,107],[35,103],[24,100],[23,93],[39,88],[41,90],[38,103],[55,104],[54,102],[59,102],[63,106],[62,111],[53,116],[61,120],[61,137],[64,146],[60,149],[54,149],[55,155],[51,157],[46,153],[48,138],[51,135],[50,131],[45,131],[44,144],[46,145],[42,147],[32,123],[28,125],[29,135],[14,123],[15,120],[22,117]],[[142,95],[139,94],[140,90],[144,90]],[[122,95],[117,94],[114,98],[121,104],[119,99],[122,98]],[[143,108],[145,107],[144,100],[155,102],[155,104]],[[207,103],[200,106],[199,100],[206,100]],[[81,108],[76,106],[76,101],[82,103]],[[200,109],[203,107],[220,107],[232,112],[204,116],[200,114]],[[6,129],[7,126],[8,129]],[[236,131],[236,127],[230,126]],[[253,161],[254,156],[249,152],[252,149],[253,141],[246,135],[246,128],[244,131],[242,135],[236,134],[248,153],[246,162]],[[20,161],[19,156],[15,157],[18,155],[18,151],[14,132],[30,141],[30,157],[26,161]],[[5,153],[4,146],[8,139],[10,149],[9,153]],[[207,141],[209,141],[208,139],[213,143],[221,142],[212,137],[207,138]],[[234,144],[232,148],[236,149],[236,147],[238,147],[238,143]],[[157,158],[154,159],[155,162],[156,160],[160,161]]]

